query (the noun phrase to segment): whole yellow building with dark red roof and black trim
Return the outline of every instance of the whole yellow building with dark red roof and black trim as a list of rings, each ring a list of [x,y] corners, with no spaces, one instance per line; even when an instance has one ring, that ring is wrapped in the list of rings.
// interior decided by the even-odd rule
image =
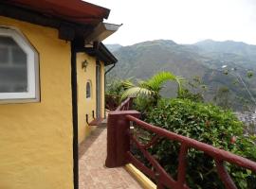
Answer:
[[[80,0],[0,2],[0,189],[78,188],[78,145],[104,116],[101,43],[119,26]]]

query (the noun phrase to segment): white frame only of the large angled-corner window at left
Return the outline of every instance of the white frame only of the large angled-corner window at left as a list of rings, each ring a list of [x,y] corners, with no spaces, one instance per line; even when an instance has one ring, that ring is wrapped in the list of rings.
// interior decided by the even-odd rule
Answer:
[[[0,104],[40,101],[38,52],[17,28],[0,25],[0,36],[12,38],[27,54],[27,92],[0,93]],[[0,68],[1,69],[1,68]]]

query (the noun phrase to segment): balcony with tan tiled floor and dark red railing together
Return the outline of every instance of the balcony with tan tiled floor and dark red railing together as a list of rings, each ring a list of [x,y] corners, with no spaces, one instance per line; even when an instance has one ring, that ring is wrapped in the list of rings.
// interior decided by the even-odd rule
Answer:
[[[124,169],[127,163],[132,163],[144,175],[155,182],[155,188],[157,189],[188,189],[190,186],[186,183],[186,167],[188,164],[186,156],[191,148],[202,151],[213,159],[216,173],[225,188],[237,188],[229,176],[225,163],[235,164],[256,173],[255,162],[141,121],[139,112],[129,111],[131,105],[132,99],[125,100],[116,111],[109,113],[107,129],[99,128],[90,136],[89,140],[82,144],[80,153],[80,188],[141,188],[137,181]],[[141,144],[131,129],[131,123],[135,127],[155,133],[155,136],[147,144]],[[169,175],[148,151],[149,147],[155,146],[160,138],[180,144],[177,178]],[[132,152],[131,144],[137,146],[137,149],[151,164],[151,168],[137,159]]]

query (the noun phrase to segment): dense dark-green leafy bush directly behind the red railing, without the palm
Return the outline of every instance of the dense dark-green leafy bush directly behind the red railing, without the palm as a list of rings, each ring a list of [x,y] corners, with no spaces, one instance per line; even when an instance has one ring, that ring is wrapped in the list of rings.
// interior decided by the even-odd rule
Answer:
[[[188,99],[161,100],[147,113],[145,121],[163,129],[191,137],[209,145],[229,150],[256,160],[253,140],[243,135],[243,124],[229,111],[219,107],[192,102]],[[161,140],[151,153],[159,163],[176,177],[180,144]],[[218,178],[210,156],[193,148],[188,153],[187,182],[191,188],[224,188]],[[227,170],[239,188],[256,188],[256,175],[250,171],[226,163]]]

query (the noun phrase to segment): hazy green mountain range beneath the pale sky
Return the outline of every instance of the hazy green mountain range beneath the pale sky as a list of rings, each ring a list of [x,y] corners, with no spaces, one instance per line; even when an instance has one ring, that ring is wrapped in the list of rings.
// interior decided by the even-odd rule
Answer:
[[[107,46],[119,60],[108,75],[108,80],[130,77],[146,79],[159,71],[171,71],[187,80],[200,77],[208,86],[208,91],[204,94],[206,100],[212,101],[221,88],[228,87],[232,107],[241,109],[244,103],[241,98],[251,102],[247,89],[240,80],[242,77],[249,92],[256,96],[256,76],[247,77],[248,71],[256,70],[256,45],[211,40],[178,44],[170,40],[156,40],[130,46],[115,44],[114,48],[113,45]],[[224,65],[227,66],[225,69],[222,68]],[[174,84],[168,84],[163,90],[165,96],[174,94]]]

